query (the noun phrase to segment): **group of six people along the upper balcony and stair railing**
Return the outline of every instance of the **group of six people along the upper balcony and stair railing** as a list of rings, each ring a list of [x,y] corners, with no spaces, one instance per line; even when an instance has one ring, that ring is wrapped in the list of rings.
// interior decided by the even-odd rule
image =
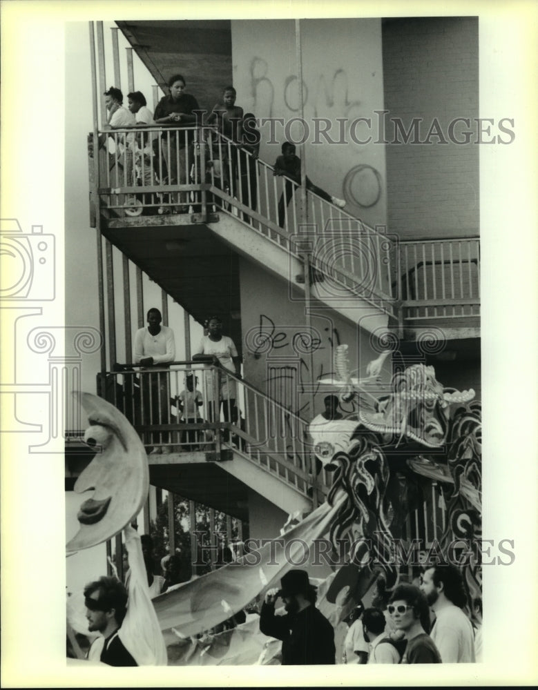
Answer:
[[[142,186],[161,181],[173,186],[185,185],[200,179],[195,177],[193,149],[193,126],[211,126],[223,141],[213,139],[212,144],[218,148],[213,160],[213,152],[208,152],[207,163],[213,167],[213,183],[220,186],[230,196],[238,197],[242,204],[252,210],[258,207],[258,170],[256,159],[260,151],[261,135],[256,128],[256,117],[252,112],[244,112],[236,105],[236,89],[226,86],[222,97],[204,121],[197,99],[186,92],[186,81],[182,75],[173,75],[168,81],[169,94],[163,96],[153,115],[147,107],[146,98],[140,91],[127,95],[128,108],[123,105],[123,94],[119,88],[111,87],[105,92],[105,103],[108,110],[107,125],[111,129],[136,128],[137,126],[159,126],[163,129],[160,136],[155,132],[144,133],[142,137],[127,134],[117,139],[119,153],[124,157],[124,179],[127,185]],[[231,142],[227,146],[227,141]],[[142,146],[140,146],[142,142]],[[222,146],[222,143],[225,145]],[[296,155],[296,147],[289,141],[282,144],[282,155],[278,156],[273,175],[285,177],[285,188],[278,202],[278,224],[285,227],[286,208],[294,196],[296,186],[301,184],[301,161]],[[215,153],[217,153],[215,151]],[[142,162],[142,159],[144,161]],[[155,164],[155,160],[160,164]],[[220,169],[222,168],[222,169]],[[189,173],[190,171],[190,173]],[[208,172],[209,175],[209,172]],[[215,175],[218,177],[215,180]],[[306,177],[307,189],[338,208],[345,206],[344,199],[329,195],[325,190],[314,185]],[[179,195],[180,204],[176,210],[186,213],[189,210],[189,199]],[[187,203],[185,203],[187,202]],[[167,210],[161,206],[160,212]],[[246,217],[244,215],[244,217]]]

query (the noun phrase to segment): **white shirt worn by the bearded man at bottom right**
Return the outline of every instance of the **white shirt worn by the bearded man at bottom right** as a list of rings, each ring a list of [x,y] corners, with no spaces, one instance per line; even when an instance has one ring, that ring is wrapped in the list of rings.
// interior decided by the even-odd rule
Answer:
[[[474,631],[465,613],[454,604],[435,611],[436,620],[430,633],[443,664],[474,662]]]

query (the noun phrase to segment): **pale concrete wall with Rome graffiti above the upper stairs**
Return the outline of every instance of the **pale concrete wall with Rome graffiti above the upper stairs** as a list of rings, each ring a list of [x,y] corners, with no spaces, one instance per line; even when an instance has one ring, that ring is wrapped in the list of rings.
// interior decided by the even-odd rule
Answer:
[[[347,210],[370,225],[385,224],[385,150],[372,142],[352,141],[349,124],[372,118],[383,109],[383,63],[380,19],[305,19],[301,21],[305,119],[310,135],[305,144],[307,175],[336,197],[345,197]],[[294,21],[232,21],[233,83],[238,105],[258,118],[298,116],[298,80]],[[373,116],[375,117],[375,116]],[[318,135],[313,118],[331,121],[332,144]],[[337,118],[344,118],[340,137]],[[367,139],[365,124],[354,136]],[[289,130],[297,141],[302,126]],[[273,164],[285,139],[276,125],[278,143],[268,144],[270,126],[262,127],[260,157]],[[363,204],[363,205],[361,205]]]

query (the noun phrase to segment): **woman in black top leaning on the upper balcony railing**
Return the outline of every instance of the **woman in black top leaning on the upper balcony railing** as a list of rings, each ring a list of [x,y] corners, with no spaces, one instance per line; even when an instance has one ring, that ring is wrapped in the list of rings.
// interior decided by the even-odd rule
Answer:
[[[182,75],[169,79],[170,95],[163,96],[157,103],[153,119],[157,125],[174,127],[173,132],[162,133],[162,155],[168,168],[169,184],[187,184],[189,176],[189,150],[193,141],[192,131],[182,132],[181,128],[197,124],[198,101],[190,93],[185,93],[185,80]],[[179,130],[178,130],[179,128]],[[177,131],[176,131],[177,130]],[[181,196],[181,195],[180,195]]]

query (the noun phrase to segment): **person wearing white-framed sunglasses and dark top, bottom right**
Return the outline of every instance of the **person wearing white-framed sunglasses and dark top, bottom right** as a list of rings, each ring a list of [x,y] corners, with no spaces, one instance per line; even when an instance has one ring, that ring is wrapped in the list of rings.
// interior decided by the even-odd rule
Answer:
[[[402,664],[440,664],[441,655],[430,631],[430,609],[425,595],[413,584],[400,584],[394,590],[387,611],[396,630],[403,631],[407,647]]]

